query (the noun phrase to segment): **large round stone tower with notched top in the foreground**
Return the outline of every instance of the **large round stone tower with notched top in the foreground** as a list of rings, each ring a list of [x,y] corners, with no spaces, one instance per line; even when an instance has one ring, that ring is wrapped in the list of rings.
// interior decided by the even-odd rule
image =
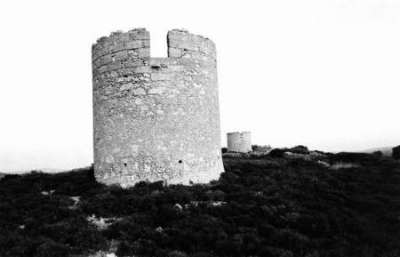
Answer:
[[[92,45],[94,173],[105,184],[217,180],[220,153],[215,45],[168,32],[168,57],[150,57],[144,28]]]

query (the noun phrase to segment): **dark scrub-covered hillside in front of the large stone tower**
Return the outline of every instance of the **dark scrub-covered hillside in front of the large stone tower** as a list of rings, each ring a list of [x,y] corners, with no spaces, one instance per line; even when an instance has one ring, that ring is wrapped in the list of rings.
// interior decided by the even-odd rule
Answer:
[[[192,187],[106,187],[91,168],[7,175],[0,256],[400,255],[392,158],[224,157],[224,165],[219,181]]]

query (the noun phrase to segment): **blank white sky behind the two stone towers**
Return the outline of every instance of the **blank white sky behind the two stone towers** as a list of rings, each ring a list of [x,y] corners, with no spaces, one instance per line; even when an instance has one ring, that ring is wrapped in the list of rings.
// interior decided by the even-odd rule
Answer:
[[[217,46],[222,146],[400,144],[400,2],[2,1],[0,172],[92,164],[92,44],[147,28],[152,57],[187,28]]]

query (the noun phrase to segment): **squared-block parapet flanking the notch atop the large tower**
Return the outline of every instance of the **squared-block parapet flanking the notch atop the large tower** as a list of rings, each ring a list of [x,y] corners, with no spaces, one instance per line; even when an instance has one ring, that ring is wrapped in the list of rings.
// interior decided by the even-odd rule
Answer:
[[[216,60],[215,44],[212,40],[190,34],[188,30],[168,31],[167,44],[170,59]],[[92,64],[95,68],[109,71],[116,68],[146,66],[149,60],[150,35],[145,28],[112,32],[110,36],[100,37],[95,44],[92,44]]]

